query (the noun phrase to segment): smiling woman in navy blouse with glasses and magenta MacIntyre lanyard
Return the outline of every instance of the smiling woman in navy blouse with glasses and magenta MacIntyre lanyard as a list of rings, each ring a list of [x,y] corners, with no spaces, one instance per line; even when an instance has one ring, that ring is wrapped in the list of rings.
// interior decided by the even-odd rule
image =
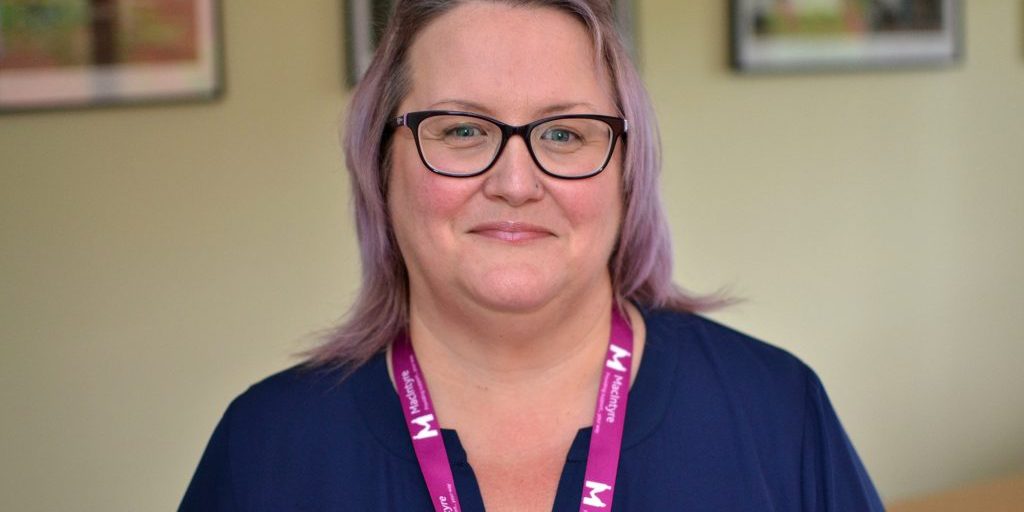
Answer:
[[[671,284],[606,2],[398,1],[345,150],[361,294],[181,510],[882,510],[813,372]]]

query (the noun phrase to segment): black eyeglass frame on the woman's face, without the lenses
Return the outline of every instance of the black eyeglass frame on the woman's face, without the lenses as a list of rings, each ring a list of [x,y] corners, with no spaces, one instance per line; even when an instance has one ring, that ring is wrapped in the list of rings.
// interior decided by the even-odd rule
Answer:
[[[488,123],[493,123],[496,126],[498,126],[502,130],[502,141],[498,144],[498,151],[495,152],[495,156],[494,158],[490,159],[490,163],[487,164],[482,169],[480,169],[479,171],[473,172],[471,174],[453,174],[450,172],[444,172],[443,170],[437,169],[436,167],[430,165],[430,162],[427,162],[427,158],[423,155],[423,146],[420,145],[420,123],[426,121],[427,119],[437,116],[461,116],[466,118],[475,118],[487,121]],[[538,126],[541,126],[545,123],[557,121],[559,119],[593,119],[601,121],[604,124],[608,125],[608,128],[611,129],[611,141],[608,144],[608,154],[605,155],[604,162],[601,164],[600,167],[598,167],[597,169],[588,174],[582,174],[580,176],[563,176],[561,174],[555,174],[549,171],[544,167],[543,164],[541,164],[540,159],[537,158],[537,154],[534,153],[534,144],[529,140],[529,134],[534,131],[534,128],[537,128]],[[409,129],[413,131],[413,140],[416,141],[416,151],[417,153],[420,154],[420,160],[423,162],[423,165],[427,167],[427,169],[430,169],[430,171],[435,174],[440,174],[441,176],[449,176],[453,178],[471,178],[473,176],[479,176],[480,174],[489,171],[490,168],[495,166],[495,163],[498,162],[498,159],[501,158],[502,152],[505,151],[505,145],[508,143],[509,139],[512,138],[513,135],[519,135],[526,143],[526,151],[529,152],[529,157],[534,160],[534,163],[537,164],[538,169],[540,169],[548,176],[559,179],[586,179],[598,175],[601,171],[603,171],[606,167],[608,167],[608,162],[611,162],[611,156],[615,153],[615,143],[618,141],[620,138],[625,140],[626,134],[629,132],[629,121],[623,118],[616,118],[613,116],[601,116],[598,114],[562,114],[559,116],[551,116],[548,118],[538,119],[537,121],[524,124],[522,126],[512,126],[510,124],[503,123],[495,118],[472,112],[419,111],[419,112],[406,113],[402,114],[401,116],[391,118],[391,120],[388,122],[389,128],[396,129],[399,126],[408,126]]]

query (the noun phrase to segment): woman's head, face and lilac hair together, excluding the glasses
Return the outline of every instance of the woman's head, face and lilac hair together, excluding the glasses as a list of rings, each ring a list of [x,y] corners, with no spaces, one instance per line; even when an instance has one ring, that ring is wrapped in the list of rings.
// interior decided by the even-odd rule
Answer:
[[[472,111],[511,125],[601,114],[625,118],[629,131],[593,177],[543,174],[525,141],[512,137],[485,173],[454,178],[426,168],[411,130],[387,126],[424,110]],[[580,280],[598,278],[617,300],[706,305],[671,282],[655,126],[607,1],[399,0],[343,136],[362,286],[345,323],[307,352],[310,362],[357,366],[384,347],[406,327],[411,276],[419,289],[451,289],[496,307],[543,305],[557,290],[583,290]],[[507,221],[544,241],[512,250],[508,240],[489,244],[481,231]]]

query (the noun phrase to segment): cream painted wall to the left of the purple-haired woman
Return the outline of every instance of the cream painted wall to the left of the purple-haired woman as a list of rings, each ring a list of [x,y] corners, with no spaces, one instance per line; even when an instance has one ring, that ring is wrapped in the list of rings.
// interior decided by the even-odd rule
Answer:
[[[0,117],[0,510],[173,510],[354,291],[339,3],[224,10],[221,102]]]

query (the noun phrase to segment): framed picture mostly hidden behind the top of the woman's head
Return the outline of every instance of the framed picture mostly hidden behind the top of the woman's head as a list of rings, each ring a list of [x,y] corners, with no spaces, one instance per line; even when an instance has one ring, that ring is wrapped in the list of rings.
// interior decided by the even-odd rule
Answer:
[[[387,27],[393,0],[343,0],[346,66],[345,78],[349,87],[355,85],[367,72],[381,35]],[[612,0],[615,23],[629,45],[633,57],[637,57],[636,30],[634,26],[633,1]]]

